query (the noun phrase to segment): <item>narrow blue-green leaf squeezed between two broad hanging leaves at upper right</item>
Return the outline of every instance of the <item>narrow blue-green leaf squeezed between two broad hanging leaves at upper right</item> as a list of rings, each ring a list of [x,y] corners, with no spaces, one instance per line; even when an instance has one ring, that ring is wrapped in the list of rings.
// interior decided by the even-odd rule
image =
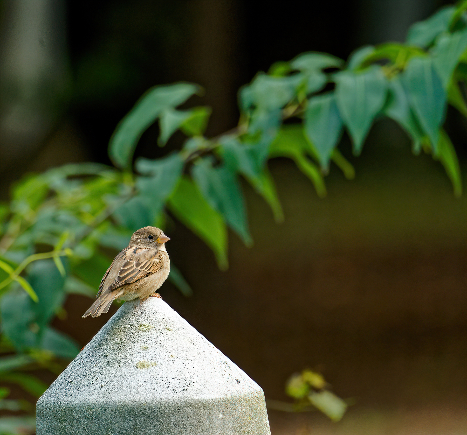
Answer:
[[[418,149],[424,133],[410,108],[409,99],[401,80],[397,76],[389,81],[389,98],[384,112],[389,118],[394,119],[402,126],[413,140],[413,148]]]

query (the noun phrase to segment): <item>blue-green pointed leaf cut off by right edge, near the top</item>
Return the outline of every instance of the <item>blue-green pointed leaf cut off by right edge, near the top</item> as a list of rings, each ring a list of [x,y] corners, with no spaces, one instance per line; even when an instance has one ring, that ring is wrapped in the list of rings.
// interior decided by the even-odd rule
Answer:
[[[445,89],[453,78],[453,72],[459,63],[460,56],[467,48],[467,28],[453,34],[441,34],[432,49],[433,65],[441,78]]]

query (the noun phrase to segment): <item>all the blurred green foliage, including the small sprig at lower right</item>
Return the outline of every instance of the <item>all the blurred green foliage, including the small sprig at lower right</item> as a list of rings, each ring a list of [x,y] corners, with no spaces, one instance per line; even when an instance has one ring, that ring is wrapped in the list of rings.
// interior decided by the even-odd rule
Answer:
[[[113,133],[114,167],[69,164],[15,183],[10,203],[0,206],[0,350],[6,355],[0,380],[35,396],[43,392],[45,385],[28,371],[60,372],[60,361],[79,351],[71,337],[50,326],[66,295],[95,294],[112,260],[102,248],[121,250],[136,229],[163,226],[167,210],[225,269],[227,227],[247,246],[253,243],[240,176],[270,205],[276,221],[283,219],[269,158],[295,161],[318,196],[325,196],[331,161],[347,178],[354,176],[337,148],[344,128],[358,155],[373,122],[386,116],[410,136],[415,154],[423,149],[441,162],[460,196],[459,163],[442,125],[448,103],[467,115],[461,91],[467,79],[466,8],[467,2],[444,8],[412,26],[406,43],[363,47],[347,63],[311,52],[274,64],[240,90],[238,126],[214,138],[203,134],[210,108],[177,109],[200,91],[198,85],[153,87]],[[180,130],[187,136],[182,149],[134,162],[138,140],[157,120],[158,145]],[[170,280],[191,294],[176,267]],[[287,392],[336,421],[346,409],[314,372],[292,377]],[[7,389],[0,393],[0,407],[26,409],[3,399]]]

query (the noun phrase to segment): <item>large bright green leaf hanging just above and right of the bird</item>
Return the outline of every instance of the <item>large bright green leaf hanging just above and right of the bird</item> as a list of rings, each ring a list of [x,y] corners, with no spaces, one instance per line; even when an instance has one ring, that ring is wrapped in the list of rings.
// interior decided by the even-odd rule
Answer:
[[[212,249],[219,268],[226,269],[226,225],[220,214],[211,208],[187,176],[182,177],[167,205],[180,222]]]

